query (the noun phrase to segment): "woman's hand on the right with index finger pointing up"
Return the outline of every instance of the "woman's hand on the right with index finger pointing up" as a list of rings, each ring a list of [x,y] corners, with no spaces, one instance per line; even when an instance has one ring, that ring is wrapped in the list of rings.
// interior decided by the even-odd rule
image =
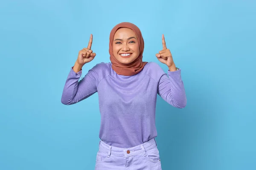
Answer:
[[[176,68],[172,59],[172,53],[169,49],[166,48],[164,35],[162,35],[162,43],[163,43],[163,50],[159,51],[159,53],[156,54],[157,59],[163,64],[166,64],[169,68],[172,68],[172,67]]]

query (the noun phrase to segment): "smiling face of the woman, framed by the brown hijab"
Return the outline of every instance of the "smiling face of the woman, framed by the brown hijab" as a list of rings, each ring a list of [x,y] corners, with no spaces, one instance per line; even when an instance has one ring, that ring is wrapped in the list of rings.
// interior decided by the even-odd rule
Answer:
[[[113,40],[114,57],[122,64],[133,62],[140,54],[140,45],[136,34],[130,28],[119,28]]]

